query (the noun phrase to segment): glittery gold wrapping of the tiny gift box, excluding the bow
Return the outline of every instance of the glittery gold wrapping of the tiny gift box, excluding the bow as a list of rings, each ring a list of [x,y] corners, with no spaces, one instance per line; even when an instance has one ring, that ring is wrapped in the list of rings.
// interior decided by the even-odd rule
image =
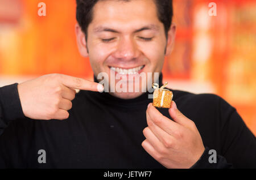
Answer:
[[[165,91],[165,90],[163,90]],[[162,93],[163,91],[159,91],[159,89],[155,89],[153,94],[153,106],[158,108],[170,108],[171,107],[171,101],[172,101],[172,92],[171,91],[165,91],[164,99],[163,99],[163,106],[161,106],[161,99],[162,99]]]

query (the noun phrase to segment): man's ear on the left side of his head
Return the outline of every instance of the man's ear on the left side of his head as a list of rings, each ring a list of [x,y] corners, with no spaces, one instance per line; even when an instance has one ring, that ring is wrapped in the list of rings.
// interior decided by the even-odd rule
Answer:
[[[88,49],[85,41],[85,33],[82,32],[82,29],[79,24],[76,24],[76,41],[77,47],[82,57],[88,57]]]

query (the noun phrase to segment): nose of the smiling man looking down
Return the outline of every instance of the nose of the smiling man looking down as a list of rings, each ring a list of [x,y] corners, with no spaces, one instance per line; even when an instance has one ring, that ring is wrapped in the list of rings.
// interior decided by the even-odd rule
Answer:
[[[113,53],[113,57],[123,60],[130,61],[139,57],[139,50],[136,42],[130,37],[123,37],[118,42],[117,49]]]

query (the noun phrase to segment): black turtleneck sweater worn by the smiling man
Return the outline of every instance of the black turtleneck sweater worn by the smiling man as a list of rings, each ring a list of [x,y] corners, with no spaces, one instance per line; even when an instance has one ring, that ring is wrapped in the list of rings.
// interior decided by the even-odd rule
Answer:
[[[236,109],[217,95],[170,90],[179,110],[195,122],[205,146],[192,168],[256,168],[255,136]],[[34,120],[24,117],[17,84],[0,88],[0,167],[164,168],[141,145],[152,102],[148,93],[123,100],[80,91],[72,102],[67,120]],[[168,109],[159,111],[171,118]],[[46,163],[38,161],[40,149]],[[216,164],[208,161],[209,149],[217,152]]]

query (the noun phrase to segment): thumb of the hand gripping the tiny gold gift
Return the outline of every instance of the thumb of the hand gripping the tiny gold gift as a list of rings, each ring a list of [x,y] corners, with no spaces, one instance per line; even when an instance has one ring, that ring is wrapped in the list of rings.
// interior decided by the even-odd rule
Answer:
[[[177,105],[174,101],[171,102],[171,108],[168,110],[171,118],[176,122],[179,123],[181,126],[189,127],[191,120],[185,117],[179,109],[177,109]]]

